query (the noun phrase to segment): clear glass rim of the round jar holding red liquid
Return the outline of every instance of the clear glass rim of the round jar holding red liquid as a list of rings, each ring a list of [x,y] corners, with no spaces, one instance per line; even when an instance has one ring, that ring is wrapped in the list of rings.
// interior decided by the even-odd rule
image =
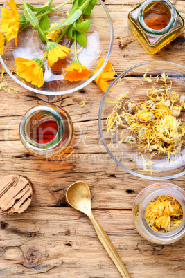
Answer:
[[[44,104],[44,106],[42,106],[42,104],[39,104],[33,106],[30,110],[28,110],[24,114],[24,117],[20,122],[19,131],[21,133],[21,138],[24,140],[24,142],[27,145],[29,145],[29,147],[32,147],[33,149],[51,149],[55,147],[55,145],[58,145],[58,142],[62,140],[62,137],[64,135],[64,124],[62,122],[62,118],[60,114],[56,110],[54,110],[56,108],[61,109],[60,107],[55,106],[53,104],[52,105]],[[53,140],[45,144],[37,143],[35,140],[31,139],[30,136],[28,136],[27,134],[27,127],[31,118],[33,118],[33,116],[36,115],[39,111],[42,111],[43,114],[51,115],[58,124],[58,131],[55,135],[55,138],[53,138]]]

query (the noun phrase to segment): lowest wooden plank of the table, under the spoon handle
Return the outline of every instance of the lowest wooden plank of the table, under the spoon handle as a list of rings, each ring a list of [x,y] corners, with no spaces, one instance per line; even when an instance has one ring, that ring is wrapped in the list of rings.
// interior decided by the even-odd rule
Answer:
[[[94,215],[131,277],[184,277],[184,239],[165,246],[149,243],[134,229],[131,212],[94,210]],[[72,208],[1,214],[0,237],[1,277],[120,277],[87,216]]]

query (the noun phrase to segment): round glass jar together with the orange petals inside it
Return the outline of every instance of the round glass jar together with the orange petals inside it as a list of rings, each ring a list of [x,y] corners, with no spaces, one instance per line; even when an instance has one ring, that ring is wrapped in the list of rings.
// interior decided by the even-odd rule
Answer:
[[[156,183],[136,197],[132,219],[142,237],[168,244],[185,234],[185,192],[171,183]]]

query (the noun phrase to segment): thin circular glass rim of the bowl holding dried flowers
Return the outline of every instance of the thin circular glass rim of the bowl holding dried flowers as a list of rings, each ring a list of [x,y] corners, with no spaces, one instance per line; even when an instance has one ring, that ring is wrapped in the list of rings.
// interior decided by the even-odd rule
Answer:
[[[120,163],[116,158],[115,156],[112,154],[112,152],[109,150],[109,147],[107,146],[106,142],[105,142],[105,138],[103,136],[103,131],[102,131],[102,124],[101,124],[101,115],[102,115],[102,109],[103,109],[103,104],[105,103],[105,99],[107,97],[107,94],[109,93],[109,91],[112,89],[112,87],[114,86],[114,84],[116,84],[116,82],[121,78],[123,77],[123,75],[125,75],[127,72],[129,71],[132,71],[132,69],[134,68],[137,68],[139,66],[144,66],[144,65],[147,65],[147,64],[169,64],[171,66],[178,66],[180,68],[182,68],[182,70],[184,70],[184,74],[185,74],[185,66],[182,66],[181,64],[176,64],[176,63],[173,63],[173,62],[167,62],[167,61],[160,61],[160,60],[156,60],[156,61],[149,61],[149,62],[143,62],[143,63],[140,63],[140,64],[136,64],[135,66],[131,66],[130,68],[127,68],[126,71],[123,71],[123,73],[121,73],[121,75],[118,75],[118,77],[116,77],[116,79],[112,82],[112,84],[110,84],[109,88],[107,89],[107,91],[105,92],[105,94],[103,95],[103,99],[100,103],[100,109],[99,109],[99,114],[98,114],[98,126],[99,126],[99,131],[100,131],[100,138],[103,142],[103,145],[107,151],[107,153],[109,154],[109,156],[122,168],[124,169],[125,171],[127,171],[128,173],[134,175],[134,176],[138,176],[139,178],[145,178],[147,180],[170,180],[172,178],[177,178],[179,176],[183,176],[185,174],[185,171],[183,172],[180,172],[178,174],[175,174],[175,175],[171,175],[171,176],[146,176],[146,175],[142,175],[142,174],[139,174],[139,173],[136,173],[130,169],[128,169],[127,167],[125,167],[122,163]]]

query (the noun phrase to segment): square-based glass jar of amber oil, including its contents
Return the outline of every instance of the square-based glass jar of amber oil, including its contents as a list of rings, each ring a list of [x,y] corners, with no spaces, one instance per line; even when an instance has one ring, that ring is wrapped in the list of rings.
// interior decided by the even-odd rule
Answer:
[[[146,0],[128,15],[128,26],[143,48],[157,53],[181,35],[184,19],[168,0]]]

